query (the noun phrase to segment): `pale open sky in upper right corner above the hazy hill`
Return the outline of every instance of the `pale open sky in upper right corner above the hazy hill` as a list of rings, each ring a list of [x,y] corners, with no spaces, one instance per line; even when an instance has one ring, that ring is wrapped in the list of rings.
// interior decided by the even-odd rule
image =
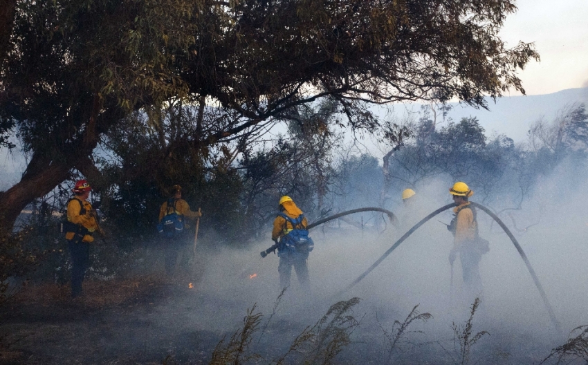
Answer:
[[[588,0],[519,0],[500,33],[514,47],[535,42],[541,62],[520,72],[527,95],[588,87]],[[511,95],[517,95],[512,93]]]

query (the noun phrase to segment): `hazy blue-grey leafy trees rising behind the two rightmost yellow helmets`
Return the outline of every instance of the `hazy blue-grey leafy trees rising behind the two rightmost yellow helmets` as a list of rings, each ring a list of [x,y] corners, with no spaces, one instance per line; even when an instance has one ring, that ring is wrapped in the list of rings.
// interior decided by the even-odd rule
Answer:
[[[405,146],[389,156],[389,179],[415,187],[434,176],[467,181],[488,198],[498,189],[497,182],[511,167],[514,142],[505,135],[489,140],[476,118],[462,118],[437,128],[421,118],[412,127],[416,133]]]

